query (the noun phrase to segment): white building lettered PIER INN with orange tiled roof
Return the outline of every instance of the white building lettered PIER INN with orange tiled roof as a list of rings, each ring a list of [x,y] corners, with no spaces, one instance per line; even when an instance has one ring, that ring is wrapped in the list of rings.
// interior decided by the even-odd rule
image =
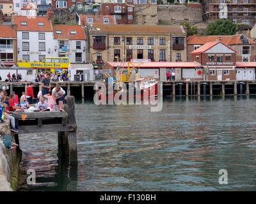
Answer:
[[[17,25],[18,61],[42,61],[44,57],[57,55],[51,20],[47,17],[13,16],[13,21]]]

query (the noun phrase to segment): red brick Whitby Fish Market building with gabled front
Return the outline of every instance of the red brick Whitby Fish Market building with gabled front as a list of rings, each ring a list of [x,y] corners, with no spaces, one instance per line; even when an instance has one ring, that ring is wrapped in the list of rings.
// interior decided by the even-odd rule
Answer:
[[[236,80],[236,50],[221,41],[205,43],[191,55],[204,68],[202,80]]]

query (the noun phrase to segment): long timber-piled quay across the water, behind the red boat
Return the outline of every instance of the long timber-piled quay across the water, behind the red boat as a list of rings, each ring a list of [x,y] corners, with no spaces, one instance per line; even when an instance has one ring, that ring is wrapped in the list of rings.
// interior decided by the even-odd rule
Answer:
[[[76,98],[93,98],[93,86],[97,82],[58,82],[68,95]],[[128,83],[128,82],[125,82]],[[131,82],[132,83],[132,82]],[[225,96],[256,94],[256,80],[227,80],[227,81],[168,81],[163,83],[164,96]],[[54,86],[56,82],[51,82]],[[26,90],[28,82],[1,82],[8,87],[8,92],[19,93]],[[34,85],[35,93],[41,89],[40,83]]]

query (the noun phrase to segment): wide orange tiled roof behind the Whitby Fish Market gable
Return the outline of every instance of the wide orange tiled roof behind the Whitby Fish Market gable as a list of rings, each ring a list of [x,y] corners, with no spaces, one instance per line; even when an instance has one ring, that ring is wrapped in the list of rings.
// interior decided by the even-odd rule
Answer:
[[[198,36],[193,35],[187,38],[188,45],[204,45],[205,43],[209,43],[211,41],[222,41],[226,45],[236,45],[243,44],[241,41],[242,34],[235,34],[233,36]],[[248,39],[249,44],[253,44],[254,42]]]

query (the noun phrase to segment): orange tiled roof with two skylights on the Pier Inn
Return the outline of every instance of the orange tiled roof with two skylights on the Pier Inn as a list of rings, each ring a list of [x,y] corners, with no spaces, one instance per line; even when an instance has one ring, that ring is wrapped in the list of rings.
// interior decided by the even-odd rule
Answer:
[[[17,31],[52,31],[51,21],[47,17],[13,15],[13,21],[17,25]],[[21,25],[20,22],[27,22],[27,25]],[[43,22],[44,26],[38,25],[38,22]]]

